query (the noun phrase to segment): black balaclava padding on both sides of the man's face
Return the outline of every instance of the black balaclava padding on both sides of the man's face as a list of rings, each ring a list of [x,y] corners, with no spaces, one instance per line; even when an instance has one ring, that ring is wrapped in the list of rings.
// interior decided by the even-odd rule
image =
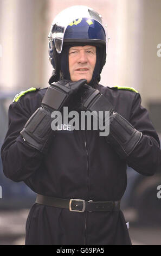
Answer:
[[[64,46],[60,56],[60,77],[61,79],[70,80],[70,73],[69,73],[69,48],[75,45]],[[96,87],[98,82],[100,81],[100,66],[101,66],[101,49],[96,47],[96,63],[95,68],[93,70],[92,80],[88,83],[89,86],[93,88]]]

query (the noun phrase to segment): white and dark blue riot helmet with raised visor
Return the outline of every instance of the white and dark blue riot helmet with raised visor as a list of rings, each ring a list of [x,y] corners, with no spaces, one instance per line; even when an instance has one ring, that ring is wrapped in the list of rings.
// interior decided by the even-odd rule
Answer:
[[[106,33],[101,15],[92,8],[75,5],[61,11],[51,25],[48,38],[49,60],[53,66],[49,83],[60,80],[60,57],[66,46],[94,45],[99,48],[101,74],[106,62]]]

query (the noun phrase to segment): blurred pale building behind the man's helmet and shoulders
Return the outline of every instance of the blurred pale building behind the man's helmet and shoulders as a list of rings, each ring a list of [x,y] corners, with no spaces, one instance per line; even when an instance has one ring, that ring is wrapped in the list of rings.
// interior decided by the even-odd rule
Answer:
[[[78,0],[0,1],[0,89],[47,87],[51,74],[48,33],[56,14]],[[107,62],[101,83],[134,87],[144,106],[160,101],[160,0],[82,0],[101,13],[108,26]],[[147,106],[148,107],[148,106]]]

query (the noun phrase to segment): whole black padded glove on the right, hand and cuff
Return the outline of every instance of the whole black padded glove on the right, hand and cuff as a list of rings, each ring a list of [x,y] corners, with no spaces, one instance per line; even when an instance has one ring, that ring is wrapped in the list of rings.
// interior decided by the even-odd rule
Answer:
[[[121,159],[128,157],[136,145],[139,143],[142,133],[137,131],[125,118],[114,112],[114,108],[107,97],[102,95],[99,90],[91,86],[83,86],[81,103],[88,111],[109,111],[110,112],[110,134],[105,136],[108,143],[119,154]],[[103,115],[105,124],[105,114]]]

